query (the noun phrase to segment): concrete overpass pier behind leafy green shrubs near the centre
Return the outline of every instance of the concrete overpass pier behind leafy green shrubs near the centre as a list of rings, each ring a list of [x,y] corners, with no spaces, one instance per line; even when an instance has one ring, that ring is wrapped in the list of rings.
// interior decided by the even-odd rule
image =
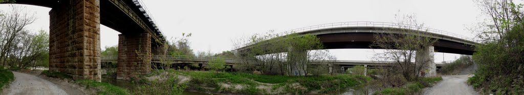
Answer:
[[[292,50],[288,51],[288,72],[291,76],[303,76],[307,71],[308,65],[304,62],[308,61],[308,51],[306,50]]]

